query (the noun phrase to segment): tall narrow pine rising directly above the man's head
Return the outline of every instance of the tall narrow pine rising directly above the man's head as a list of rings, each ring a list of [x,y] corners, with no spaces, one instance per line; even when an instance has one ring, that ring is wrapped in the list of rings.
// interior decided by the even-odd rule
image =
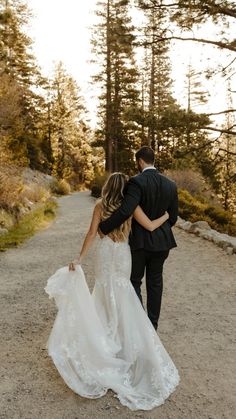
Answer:
[[[159,37],[165,32],[168,18],[166,10],[156,8],[153,1],[140,1],[139,7],[144,10],[147,23],[144,29],[145,58],[143,73],[145,77],[145,108],[146,108],[146,143],[151,146],[157,155],[159,168],[168,164],[171,130],[164,121],[166,113],[171,109],[176,112],[177,105],[172,96],[171,63],[169,58],[169,42],[159,42]],[[170,127],[171,128],[171,127]],[[166,160],[167,159],[167,160]]]

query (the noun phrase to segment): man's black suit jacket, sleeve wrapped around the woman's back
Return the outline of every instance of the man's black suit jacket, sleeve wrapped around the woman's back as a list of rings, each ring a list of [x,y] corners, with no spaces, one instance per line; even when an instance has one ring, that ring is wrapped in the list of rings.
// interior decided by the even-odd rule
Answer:
[[[151,220],[161,217],[165,211],[168,211],[170,218],[153,232],[145,230],[133,219],[129,237],[131,249],[161,251],[176,247],[171,230],[178,216],[176,184],[154,169],[146,169],[130,178],[120,208],[100,223],[100,230],[109,234],[127,220],[138,205]]]

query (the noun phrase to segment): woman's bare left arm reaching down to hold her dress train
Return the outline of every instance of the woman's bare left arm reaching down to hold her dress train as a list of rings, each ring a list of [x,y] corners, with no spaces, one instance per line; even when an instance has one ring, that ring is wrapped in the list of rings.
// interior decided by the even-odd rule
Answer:
[[[80,251],[80,255],[77,259],[75,259],[73,262],[69,264],[70,270],[74,270],[75,269],[74,265],[81,263],[82,258],[87,254],[91,244],[93,243],[96,237],[96,234],[98,231],[98,225],[100,221],[101,221],[101,209],[100,209],[100,205],[97,204],[93,210],[92,221],[91,221],[89,230],[85,236],[82,249]]]

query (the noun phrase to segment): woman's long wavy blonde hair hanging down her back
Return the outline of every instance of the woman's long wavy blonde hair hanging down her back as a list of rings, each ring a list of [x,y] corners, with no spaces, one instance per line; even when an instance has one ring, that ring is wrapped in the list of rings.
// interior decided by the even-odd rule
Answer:
[[[101,208],[102,219],[109,218],[117,210],[124,198],[124,188],[127,183],[127,177],[120,172],[112,173],[102,188]],[[131,218],[126,220],[120,227],[109,233],[114,241],[124,241],[128,238],[131,228]]]

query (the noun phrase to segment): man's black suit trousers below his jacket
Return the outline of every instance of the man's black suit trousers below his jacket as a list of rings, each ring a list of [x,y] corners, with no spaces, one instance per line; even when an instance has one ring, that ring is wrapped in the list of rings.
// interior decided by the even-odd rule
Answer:
[[[169,255],[169,250],[151,252],[145,249],[132,250],[131,282],[141,303],[141,284],[146,269],[147,313],[155,329],[161,311],[163,290],[163,265]]]

